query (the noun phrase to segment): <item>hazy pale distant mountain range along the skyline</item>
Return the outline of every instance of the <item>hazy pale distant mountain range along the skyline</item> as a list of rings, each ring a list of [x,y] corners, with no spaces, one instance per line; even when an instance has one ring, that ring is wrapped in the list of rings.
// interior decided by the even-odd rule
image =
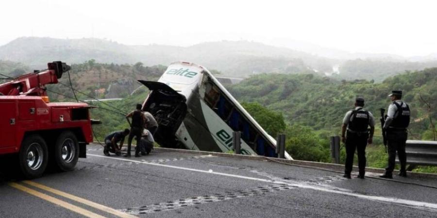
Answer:
[[[42,69],[47,62],[58,60],[68,64],[79,64],[88,60],[118,65],[134,65],[136,62],[142,62],[145,66],[188,61],[234,77],[249,77],[262,73],[306,72],[320,76],[334,73],[332,78],[338,80],[366,79],[381,82],[406,70],[437,67],[437,61],[433,56],[403,59],[389,54],[350,54],[349,58],[333,57],[338,56],[321,57],[287,47],[274,47],[244,40],[206,42],[177,47],[154,44],[123,45],[96,38],[21,37],[0,46],[0,60],[9,63],[22,62],[32,70]],[[339,74],[336,74],[338,72]]]

